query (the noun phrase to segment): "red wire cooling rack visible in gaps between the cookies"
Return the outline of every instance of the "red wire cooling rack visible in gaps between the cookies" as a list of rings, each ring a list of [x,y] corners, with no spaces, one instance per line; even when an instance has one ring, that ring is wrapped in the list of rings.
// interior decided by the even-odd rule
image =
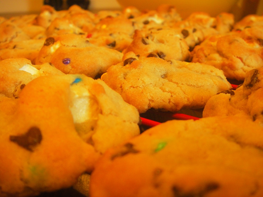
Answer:
[[[232,89],[235,90],[239,84],[241,84],[241,82],[238,82],[238,81],[235,82],[235,84],[231,84]],[[146,126],[146,127],[154,127],[154,126],[159,125],[162,122],[165,122],[167,120],[173,120],[173,119],[176,119],[176,120],[190,120],[190,119],[198,120],[199,118],[201,118],[202,111],[200,111],[200,110],[199,111],[193,110],[193,111],[197,112],[197,116],[196,115],[189,115],[187,113],[181,113],[181,112],[171,113],[171,112],[151,111],[150,112],[151,116],[149,116],[149,113],[148,113],[148,115],[147,114],[141,115],[141,117],[140,117],[141,118],[141,124],[143,126]],[[159,120],[161,120],[161,121],[159,121]]]

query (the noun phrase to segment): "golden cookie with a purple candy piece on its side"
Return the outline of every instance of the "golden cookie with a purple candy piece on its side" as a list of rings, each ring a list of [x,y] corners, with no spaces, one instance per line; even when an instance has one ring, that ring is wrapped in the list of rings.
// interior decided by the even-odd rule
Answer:
[[[95,46],[82,36],[64,34],[48,37],[38,53],[36,64],[52,63],[65,74],[85,74],[95,78],[114,64],[123,54],[103,46]]]

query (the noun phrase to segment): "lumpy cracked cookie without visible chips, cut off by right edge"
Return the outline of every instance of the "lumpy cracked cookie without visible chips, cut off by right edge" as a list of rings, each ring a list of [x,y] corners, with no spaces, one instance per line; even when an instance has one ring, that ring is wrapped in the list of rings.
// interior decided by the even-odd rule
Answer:
[[[242,81],[249,70],[262,67],[262,33],[262,27],[254,26],[211,36],[194,48],[192,62],[213,65],[227,78]]]

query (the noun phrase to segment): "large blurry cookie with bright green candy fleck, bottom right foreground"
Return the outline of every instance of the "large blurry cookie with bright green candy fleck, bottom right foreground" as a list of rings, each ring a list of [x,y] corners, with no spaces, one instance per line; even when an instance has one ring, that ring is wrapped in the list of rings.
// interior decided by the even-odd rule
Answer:
[[[262,196],[262,131],[244,116],[162,123],[99,159],[90,196]]]

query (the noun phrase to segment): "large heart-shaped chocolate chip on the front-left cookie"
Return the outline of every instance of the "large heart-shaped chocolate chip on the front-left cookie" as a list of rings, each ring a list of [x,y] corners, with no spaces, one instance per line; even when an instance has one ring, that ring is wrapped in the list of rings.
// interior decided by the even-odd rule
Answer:
[[[32,152],[34,151],[34,148],[41,143],[42,134],[38,127],[31,127],[25,134],[10,136],[9,139],[10,141]]]

